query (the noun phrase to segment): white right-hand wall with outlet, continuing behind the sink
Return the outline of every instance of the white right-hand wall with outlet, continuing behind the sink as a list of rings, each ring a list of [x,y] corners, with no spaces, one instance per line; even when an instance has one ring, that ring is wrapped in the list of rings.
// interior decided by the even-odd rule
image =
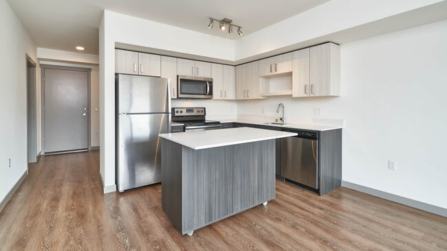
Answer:
[[[341,97],[239,101],[239,117],[282,102],[290,121],[344,119],[343,180],[447,208],[446,41],[440,21],[343,44]]]

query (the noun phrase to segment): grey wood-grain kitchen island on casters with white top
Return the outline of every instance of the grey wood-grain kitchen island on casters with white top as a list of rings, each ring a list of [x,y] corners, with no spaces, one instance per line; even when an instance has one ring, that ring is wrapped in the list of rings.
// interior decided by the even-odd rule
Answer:
[[[230,128],[160,134],[162,208],[182,234],[275,196],[275,139],[296,133]]]

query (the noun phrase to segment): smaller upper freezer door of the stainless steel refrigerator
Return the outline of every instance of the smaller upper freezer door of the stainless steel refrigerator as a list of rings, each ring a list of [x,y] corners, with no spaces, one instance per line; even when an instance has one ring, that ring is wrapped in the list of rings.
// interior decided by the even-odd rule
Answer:
[[[119,113],[171,112],[167,78],[122,74],[116,77]]]

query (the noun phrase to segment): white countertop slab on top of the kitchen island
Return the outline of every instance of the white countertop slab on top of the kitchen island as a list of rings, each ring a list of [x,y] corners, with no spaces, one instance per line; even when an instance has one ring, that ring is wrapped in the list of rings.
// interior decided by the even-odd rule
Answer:
[[[160,137],[193,148],[194,150],[201,150],[225,145],[266,141],[268,139],[280,139],[296,135],[294,132],[279,132],[258,128],[228,128],[224,130],[165,133],[160,134]]]

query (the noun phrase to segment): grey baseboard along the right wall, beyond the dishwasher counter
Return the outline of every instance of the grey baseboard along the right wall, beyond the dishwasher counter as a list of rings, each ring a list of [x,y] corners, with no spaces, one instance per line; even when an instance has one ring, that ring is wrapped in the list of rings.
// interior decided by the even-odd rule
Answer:
[[[447,208],[442,208],[440,206],[434,206],[432,204],[427,204],[424,202],[419,202],[417,200],[411,200],[399,195],[395,195],[393,193],[386,193],[384,191],[371,189],[369,187],[364,187],[360,184],[351,183],[345,180],[342,180],[342,187],[347,187],[349,189],[353,189],[362,193],[367,193],[369,195],[373,195],[385,200],[391,200],[392,202],[397,202],[399,204],[404,204],[406,206],[411,206],[422,211],[427,211],[429,213],[434,213],[435,215],[441,215],[447,217]]]

